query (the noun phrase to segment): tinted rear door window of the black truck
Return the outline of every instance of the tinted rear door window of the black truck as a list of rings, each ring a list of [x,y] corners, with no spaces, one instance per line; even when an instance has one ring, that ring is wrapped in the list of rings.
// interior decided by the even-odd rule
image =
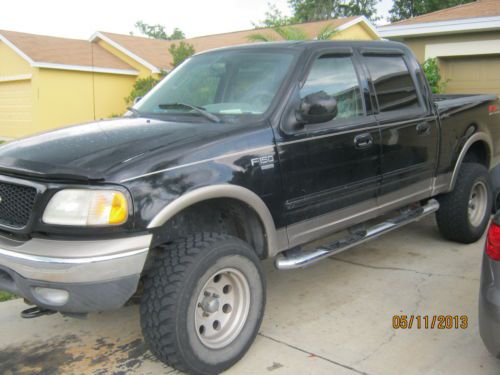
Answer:
[[[420,107],[415,83],[402,57],[368,56],[365,59],[380,112]]]

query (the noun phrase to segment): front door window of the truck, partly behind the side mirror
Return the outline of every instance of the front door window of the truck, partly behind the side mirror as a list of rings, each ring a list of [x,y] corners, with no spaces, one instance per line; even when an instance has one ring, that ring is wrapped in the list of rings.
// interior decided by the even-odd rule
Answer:
[[[350,57],[324,55],[311,67],[309,76],[300,90],[300,97],[320,91],[337,100],[336,118],[363,116],[363,102],[358,77]]]

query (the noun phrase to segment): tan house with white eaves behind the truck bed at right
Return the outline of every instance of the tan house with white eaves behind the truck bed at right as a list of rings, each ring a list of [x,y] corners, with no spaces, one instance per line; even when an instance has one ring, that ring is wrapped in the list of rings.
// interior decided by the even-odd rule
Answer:
[[[422,63],[437,58],[446,92],[500,95],[500,1],[477,0],[379,27]]]

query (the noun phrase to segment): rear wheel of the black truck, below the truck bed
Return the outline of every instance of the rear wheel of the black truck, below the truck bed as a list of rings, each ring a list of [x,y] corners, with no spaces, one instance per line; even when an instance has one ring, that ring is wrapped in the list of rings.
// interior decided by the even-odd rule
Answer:
[[[492,210],[488,170],[478,163],[464,163],[455,189],[439,198],[436,220],[441,235],[451,241],[472,243],[481,238]]]

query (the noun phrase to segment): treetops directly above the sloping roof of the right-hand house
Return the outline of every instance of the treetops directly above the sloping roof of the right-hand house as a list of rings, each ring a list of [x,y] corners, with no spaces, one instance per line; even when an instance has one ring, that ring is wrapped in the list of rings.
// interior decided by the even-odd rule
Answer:
[[[472,1],[474,0],[394,0],[388,20],[401,21]]]

